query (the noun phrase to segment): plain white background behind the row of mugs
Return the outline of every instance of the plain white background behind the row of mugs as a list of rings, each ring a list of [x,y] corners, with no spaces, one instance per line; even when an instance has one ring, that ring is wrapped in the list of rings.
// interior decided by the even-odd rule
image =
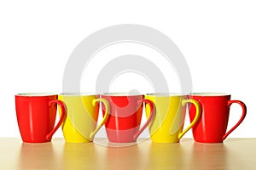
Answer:
[[[67,59],[85,37],[107,26],[139,24],[161,31],[177,44],[189,65],[194,92],[226,92],[232,99],[241,99],[247,105],[247,117],[230,137],[255,138],[255,8],[256,3],[244,0],[1,1],[0,137],[20,136],[15,94],[61,93]],[[94,90],[92,82],[101,70],[98,65],[107,62],[107,58],[101,60],[104,55],[110,59],[119,54],[142,54],[154,61],[152,49],[131,46],[120,44],[98,54],[90,65],[90,78],[81,79],[81,89]],[[178,90],[172,65],[166,65],[159,54],[156,57],[163,74],[169,75],[170,89]],[[131,83],[133,79],[137,83]],[[92,85],[83,89],[86,83]],[[111,86],[113,91],[130,88],[152,90],[148,80],[135,73],[120,75]],[[233,105],[229,128],[240,115],[241,108]],[[55,137],[61,135],[59,129]],[[191,137],[191,132],[185,137]]]

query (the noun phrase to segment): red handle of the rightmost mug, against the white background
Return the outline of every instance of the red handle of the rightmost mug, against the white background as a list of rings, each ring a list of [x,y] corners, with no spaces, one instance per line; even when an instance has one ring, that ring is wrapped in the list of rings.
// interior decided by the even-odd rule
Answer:
[[[236,127],[238,127],[241,124],[241,122],[243,121],[243,119],[247,115],[247,106],[242,101],[240,101],[240,100],[229,100],[228,101],[228,106],[230,107],[234,103],[241,105],[241,109],[242,109],[241,118],[239,119],[238,122],[236,122],[236,125],[234,127],[232,127],[229,132],[224,133],[224,135],[222,137],[223,140],[226,139],[228,137],[228,135],[230,133],[232,133],[236,129]]]

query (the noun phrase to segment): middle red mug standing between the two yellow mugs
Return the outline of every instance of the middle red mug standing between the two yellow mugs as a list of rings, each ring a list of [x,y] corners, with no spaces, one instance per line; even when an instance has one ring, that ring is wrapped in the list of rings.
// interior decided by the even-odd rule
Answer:
[[[102,99],[109,103],[109,116],[105,122],[108,141],[113,143],[136,142],[138,136],[152,121],[154,103],[144,99],[143,94],[103,94]],[[150,107],[150,116],[141,129],[143,103]],[[102,105],[102,114],[105,115],[105,106]]]

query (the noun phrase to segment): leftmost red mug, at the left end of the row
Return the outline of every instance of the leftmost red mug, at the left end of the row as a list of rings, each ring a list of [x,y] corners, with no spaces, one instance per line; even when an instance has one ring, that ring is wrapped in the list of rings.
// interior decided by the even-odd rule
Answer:
[[[61,117],[55,126],[57,105]],[[67,116],[66,106],[57,94],[16,94],[15,107],[20,136],[26,143],[49,142]]]

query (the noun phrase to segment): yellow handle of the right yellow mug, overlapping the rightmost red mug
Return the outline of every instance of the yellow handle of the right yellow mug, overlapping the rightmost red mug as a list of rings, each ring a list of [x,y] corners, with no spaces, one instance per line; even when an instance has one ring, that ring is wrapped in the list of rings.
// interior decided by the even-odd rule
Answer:
[[[192,103],[193,105],[195,105],[195,117],[194,120],[189,124],[189,126],[185,128],[185,130],[183,130],[182,133],[178,134],[178,139],[181,139],[183,135],[187,133],[191,127],[195,125],[195,123],[199,120],[199,117],[201,116],[201,105],[199,104],[198,101],[196,101],[195,99],[183,99],[182,106],[185,106],[187,103]]]

